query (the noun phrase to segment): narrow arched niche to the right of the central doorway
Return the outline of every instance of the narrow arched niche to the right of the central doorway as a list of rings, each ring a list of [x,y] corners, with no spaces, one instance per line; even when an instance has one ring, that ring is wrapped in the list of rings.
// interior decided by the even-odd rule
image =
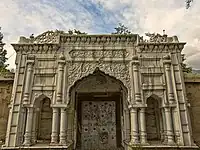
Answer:
[[[162,116],[157,98],[147,99],[146,109],[147,140],[149,142],[161,142]]]

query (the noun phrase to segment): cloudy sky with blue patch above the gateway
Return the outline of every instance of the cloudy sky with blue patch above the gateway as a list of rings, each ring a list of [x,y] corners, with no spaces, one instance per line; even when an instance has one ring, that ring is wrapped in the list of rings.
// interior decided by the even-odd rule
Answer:
[[[9,68],[15,53],[10,43],[19,36],[47,30],[79,29],[91,34],[111,33],[121,22],[133,33],[177,35],[187,42],[187,64],[200,69],[200,0],[190,9],[185,0],[0,0],[0,26],[8,50]]]

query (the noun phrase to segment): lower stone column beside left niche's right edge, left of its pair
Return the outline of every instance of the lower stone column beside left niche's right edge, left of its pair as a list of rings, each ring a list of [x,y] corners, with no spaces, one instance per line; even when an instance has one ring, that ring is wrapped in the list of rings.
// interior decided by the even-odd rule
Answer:
[[[58,132],[59,132],[59,108],[53,108],[51,144],[58,143]]]

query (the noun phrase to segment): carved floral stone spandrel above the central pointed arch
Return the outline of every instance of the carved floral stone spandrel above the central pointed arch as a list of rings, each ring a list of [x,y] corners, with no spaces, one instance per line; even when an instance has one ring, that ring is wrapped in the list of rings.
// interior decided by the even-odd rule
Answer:
[[[95,72],[98,68],[100,71],[114,77],[121,81],[127,88],[128,97],[130,95],[130,74],[129,64],[125,62],[112,62],[112,63],[91,63],[91,62],[73,62],[68,68],[68,98],[70,89],[75,85],[76,82],[80,81],[84,77],[87,77]],[[129,100],[129,99],[128,99]]]

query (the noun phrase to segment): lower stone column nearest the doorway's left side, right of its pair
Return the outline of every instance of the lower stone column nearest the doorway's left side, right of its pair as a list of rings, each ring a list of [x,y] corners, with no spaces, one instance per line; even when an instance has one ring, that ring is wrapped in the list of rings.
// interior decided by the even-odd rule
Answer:
[[[61,115],[60,115],[60,144],[61,145],[67,144],[66,120],[67,120],[66,108],[61,108]]]

